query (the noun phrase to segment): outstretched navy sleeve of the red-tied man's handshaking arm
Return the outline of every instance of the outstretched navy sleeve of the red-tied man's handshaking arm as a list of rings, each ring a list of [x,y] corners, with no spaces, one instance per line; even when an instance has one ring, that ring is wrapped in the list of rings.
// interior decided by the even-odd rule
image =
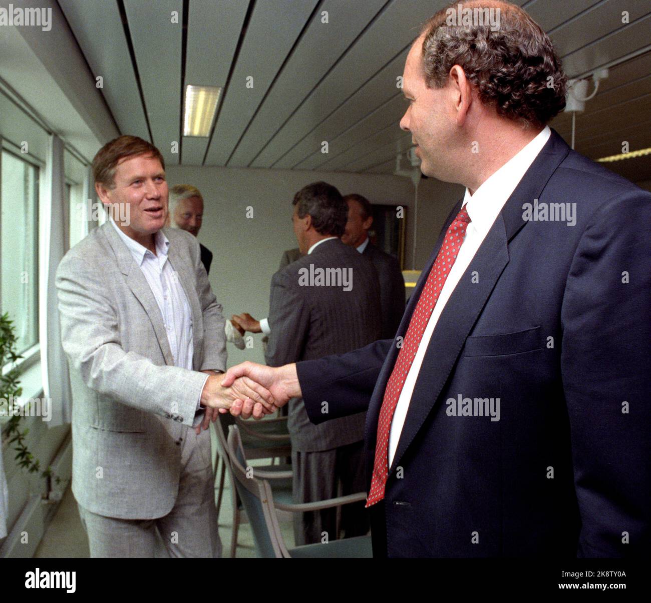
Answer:
[[[322,423],[368,410],[384,360],[394,341],[370,343],[346,354],[296,364],[307,416]],[[324,401],[328,412],[321,412]]]

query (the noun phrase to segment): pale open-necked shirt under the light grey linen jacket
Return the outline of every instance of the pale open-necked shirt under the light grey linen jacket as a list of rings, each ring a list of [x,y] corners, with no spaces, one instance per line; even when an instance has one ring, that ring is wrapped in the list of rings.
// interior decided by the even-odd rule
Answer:
[[[163,317],[167,342],[174,358],[174,366],[190,371],[194,370],[192,364],[194,356],[192,310],[178,275],[167,257],[169,239],[162,230],[156,233],[154,236],[156,255],[154,255],[146,247],[124,234],[112,218],[110,221],[124,241],[124,245],[130,250],[135,263],[139,265],[154,294],[154,299],[156,299],[156,304]],[[208,375],[206,375],[207,379]],[[201,405],[197,400],[197,410],[200,408]]]

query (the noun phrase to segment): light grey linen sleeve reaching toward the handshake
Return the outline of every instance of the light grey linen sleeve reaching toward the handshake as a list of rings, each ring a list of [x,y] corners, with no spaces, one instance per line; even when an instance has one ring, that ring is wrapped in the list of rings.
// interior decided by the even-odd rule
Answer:
[[[193,425],[206,375],[158,366],[124,351],[109,288],[81,258],[62,260],[56,284],[61,343],[86,386],[130,407]]]

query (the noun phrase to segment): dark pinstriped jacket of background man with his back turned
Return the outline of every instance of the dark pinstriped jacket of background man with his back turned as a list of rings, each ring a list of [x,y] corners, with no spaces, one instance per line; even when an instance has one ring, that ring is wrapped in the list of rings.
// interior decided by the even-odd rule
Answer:
[[[311,265],[314,271],[352,271],[350,291],[341,286],[314,286],[309,280],[305,284]],[[341,354],[374,342],[380,336],[381,319],[380,284],[372,263],[339,239],[320,243],[310,255],[273,275],[269,324],[265,357],[270,366]],[[365,416],[362,412],[314,425],[303,400],[292,399],[288,417],[292,448],[314,452],[360,442]]]

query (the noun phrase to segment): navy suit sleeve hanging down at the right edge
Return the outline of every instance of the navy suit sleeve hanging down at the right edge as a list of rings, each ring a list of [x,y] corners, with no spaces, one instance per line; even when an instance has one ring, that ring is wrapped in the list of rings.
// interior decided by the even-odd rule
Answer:
[[[651,458],[651,196],[596,211],[562,302],[561,370],[572,433],[579,557],[646,551]]]

